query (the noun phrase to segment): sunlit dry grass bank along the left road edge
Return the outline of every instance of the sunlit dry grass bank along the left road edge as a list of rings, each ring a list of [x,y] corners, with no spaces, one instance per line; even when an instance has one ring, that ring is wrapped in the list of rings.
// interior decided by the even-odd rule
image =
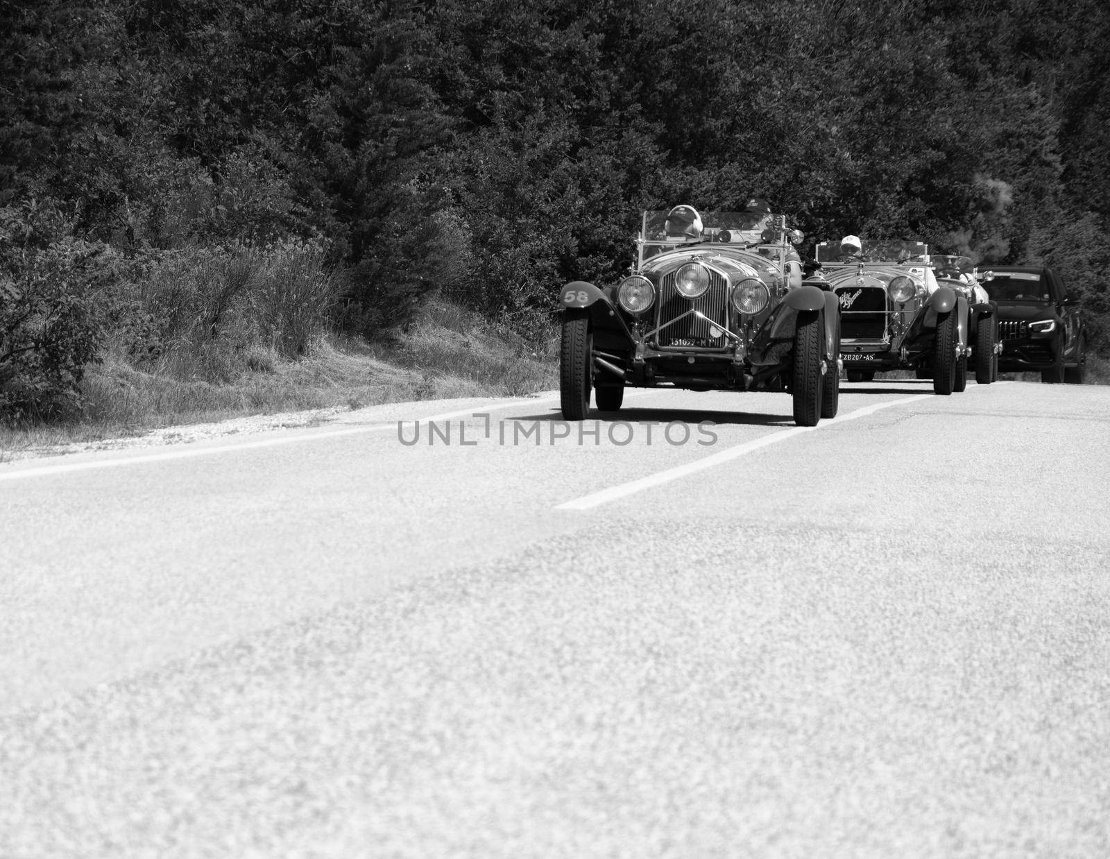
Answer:
[[[23,451],[119,438],[181,424],[313,408],[464,396],[518,396],[558,385],[554,340],[537,348],[453,304],[434,301],[407,332],[366,343],[319,338],[299,360],[252,346],[221,368],[143,367],[119,350],[89,368],[80,416],[47,425],[0,424],[0,458]],[[189,373],[186,371],[193,371]],[[208,381],[226,377],[226,381]]]

